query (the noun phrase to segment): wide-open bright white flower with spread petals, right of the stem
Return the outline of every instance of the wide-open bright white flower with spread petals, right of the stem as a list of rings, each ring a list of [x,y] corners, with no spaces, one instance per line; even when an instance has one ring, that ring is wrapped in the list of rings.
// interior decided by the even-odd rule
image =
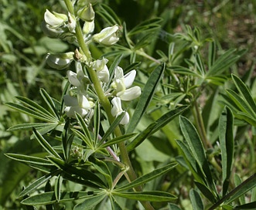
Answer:
[[[133,86],[130,88],[135,80],[135,76],[135,70],[131,70],[131,72],[124,76],[124,72],[121,67],[117,66],[114,69],[114,79],[113,83],[111,83],[111,87],[115,90],[116,96],[120,97],[121,100],[133,100],[141,95],[142,91],[139,86]]]

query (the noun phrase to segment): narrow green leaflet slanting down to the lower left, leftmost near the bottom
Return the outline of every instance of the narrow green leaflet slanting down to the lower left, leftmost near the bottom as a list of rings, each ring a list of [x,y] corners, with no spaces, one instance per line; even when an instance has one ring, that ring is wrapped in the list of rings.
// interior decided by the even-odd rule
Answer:
[[[39,186],[43,185],[46,181],[49,181],[50,178],[53,178],[56,174],[59,174],[60,170],[55,170],[50,172],[49,174],[44,175],[43,177],[33,181],[27,188],[25,188],[18,196],[18,198],[22,198],[25,195],[28,195],[32,191],[35,191]]]

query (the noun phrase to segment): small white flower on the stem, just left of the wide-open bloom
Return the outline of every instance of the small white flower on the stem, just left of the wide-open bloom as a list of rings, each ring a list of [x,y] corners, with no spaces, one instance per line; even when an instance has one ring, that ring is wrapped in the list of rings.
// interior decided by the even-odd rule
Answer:
[[[96,70],[97,77],[104,83],[108,83],[109,80],[109,71],[108,66],[108,59],[97,59],[93,63],[93,69]]]

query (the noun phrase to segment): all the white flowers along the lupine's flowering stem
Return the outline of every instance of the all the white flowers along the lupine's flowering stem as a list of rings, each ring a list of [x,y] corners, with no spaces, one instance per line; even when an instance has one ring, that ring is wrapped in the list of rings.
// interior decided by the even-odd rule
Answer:
[[[118,25],[107,27],[102,29],[101,32],[93,34],[95,12],[90,3],[87,1],[78,2],[76,11],[75,15],[70,13],[65,15],[46,10],[43,22],[43,30],[46,32],[46,35],[64,39],[68,42],[77,42],[76,27],[80,27],[80,22],[84,22],[82,37],[87,46],[90,42],[98,42],[104,46],[111,46],[118,42]],[[136,71],[132,70],[124,75],[123,69],[117,66],[114,69],[114,78],[110,83],[110,73],[107,66],[108,59],[93,60],[88,58],[83,52],[80,52],[80,49],[77,49],[75,52],[48,54],[46,56],[48,65],[55,69],[65,69],[73,61],[76,66],[76,72],[67,71],[67,78],[72,87],[67,95],[63,97],[67,117],[75,117],[75,113],[79,113],[82,117],[86,118],[90,116],[90,113],[93,113],[95,100],[97,100],[95,96],[97,94],[88,94],[94,91],[94,87],[87,76],[87,69],[92,69],[101,83],[105,97],[111,100],[111,114],[113,117],[118,117],[118,115],[125,112],[121,124],[128,124],[129,115],[123,110],[121,101],[130,101],[140,96],[140,87],[131,87],[135,80]]]

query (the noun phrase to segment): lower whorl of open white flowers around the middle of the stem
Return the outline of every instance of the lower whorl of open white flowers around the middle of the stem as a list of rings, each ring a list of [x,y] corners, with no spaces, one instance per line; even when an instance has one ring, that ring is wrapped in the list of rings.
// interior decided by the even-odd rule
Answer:
[[[109,71],[108,59],[97,59],[94,61],[91,66],[97,73],[98,79],[101,81],[103,86],[109,81]],[[85,76],[81,64],[77,64],[77,73],[72,71],[67,72],[67,77],[70,83],[73,85],[73,88],[77,90],[76,97],[66,95],[64,96],[64,103],[67,106],[65,111],[68,117],[75,117],[75,113],[79,113],[82,117],[86,117],[90,110],[94,107],[94,100],[88,97],[87,89],[90,85],[90,80]],[[121,101],[130,101],[141,95],[141,88],[139,86],[131,87],[132,83],[135,80],[136,71],[132,70],[131,72],[125,74],[123,69],[117,66],[114,69],[114,78],[110,85],[110,90],[106,91],[106,97],[111,97],[111,114],[114,117],[118,117],[121,113],[125,112],[123,119],[120,124],[128,124],[129,114],[122,109]]]

